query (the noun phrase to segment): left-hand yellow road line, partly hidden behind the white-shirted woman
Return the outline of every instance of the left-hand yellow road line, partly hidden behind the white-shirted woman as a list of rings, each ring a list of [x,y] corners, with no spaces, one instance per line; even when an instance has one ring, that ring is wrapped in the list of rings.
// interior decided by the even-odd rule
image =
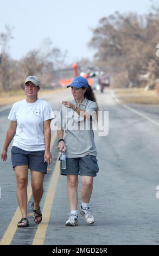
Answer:
[[[57,137],[57,132],[54,131],[53,136],[52,136],[52,140],[51,140],[51,147],[53,147],[53,144],[55,142],[55,139]],[[32,194],[32,190],[31,190],[31,184],[28,185],[28,202],[30,200],[31,194]],[[16,230],[17,230],[17,222],[22,218],[21,216],[21,212],[20,212],[20,208],[18,207],[17,210],[15,211],[14,216],[12,217],[12,220],[7,228],[7,230],[5,231],[1,241],[0,241],[0,245],[10,245]]]

